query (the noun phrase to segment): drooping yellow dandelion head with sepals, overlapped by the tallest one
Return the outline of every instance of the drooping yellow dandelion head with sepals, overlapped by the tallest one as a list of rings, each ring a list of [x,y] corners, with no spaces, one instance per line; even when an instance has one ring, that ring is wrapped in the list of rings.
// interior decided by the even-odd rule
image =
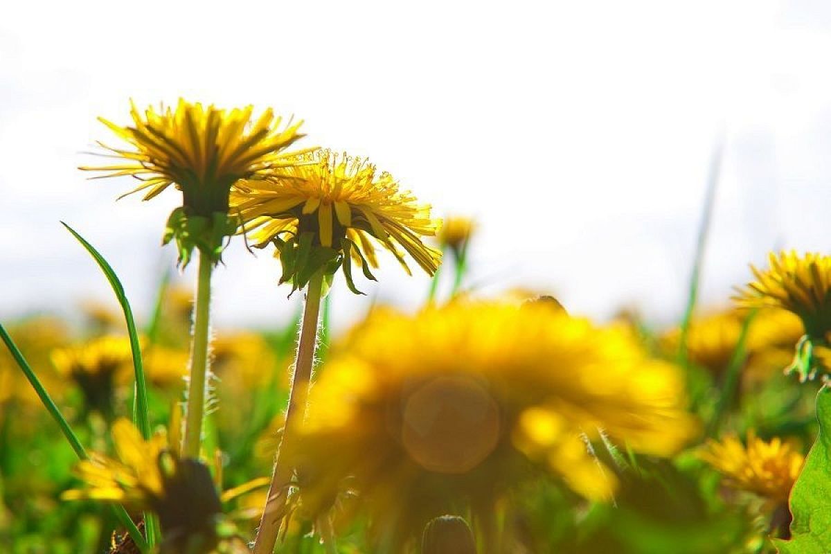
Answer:
[[[421,242],[435,235],[439,222],[430,206],[401,190],[391,174],[378,173],[365,159],[318,150],[297,157],[297,164],[275,169],[269,179],[245,181],[232,194],[244,228],[258,246],[274,243],[283,264],[280,282],[302,288],[325,267],[331,275],[342,265],[352,282],[352,262],[367,278],[377,267],[375,239],[410,272],[399,247],[429,275],[441,253]]]

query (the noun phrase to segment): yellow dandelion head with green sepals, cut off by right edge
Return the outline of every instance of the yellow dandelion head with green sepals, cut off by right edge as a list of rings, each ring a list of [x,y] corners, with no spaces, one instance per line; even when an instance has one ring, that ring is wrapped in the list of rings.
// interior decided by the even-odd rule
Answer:
[[[739,291],[735,301],[747,308],[776,307],[791,311],[802,320],[805,335],[796,347],[789,371],[800,380],[811,379],[818,370],[829,370],[831,359],[831,256],[795,251],[770,254],[770,267]],[[816,352],[815,352],[816,351]]]

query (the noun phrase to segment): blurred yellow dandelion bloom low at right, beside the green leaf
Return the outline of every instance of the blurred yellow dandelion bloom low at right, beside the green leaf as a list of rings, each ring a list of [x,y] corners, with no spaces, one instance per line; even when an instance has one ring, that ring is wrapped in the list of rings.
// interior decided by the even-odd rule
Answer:
[[[770,442],[750,432],[747,445],[733,436],[710,440],[700,454],[735,490],[755,493],[772,503],[787,503],[804,463],[804,456],[782,439]]]

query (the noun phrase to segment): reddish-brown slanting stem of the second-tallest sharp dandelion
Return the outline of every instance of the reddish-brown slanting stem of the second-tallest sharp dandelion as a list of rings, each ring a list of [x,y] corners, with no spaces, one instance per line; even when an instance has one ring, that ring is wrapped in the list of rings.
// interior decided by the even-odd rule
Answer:
[[[283,437],[277,447],[274,459],[274,473],[271,486],[268,488],[268,500],[263,509],[263,517],[254,540],[253,554],[271,554],[277,542],[280,524],[283,522],[283,512],[288,497],[288,488],[292,480],[293,468],[286,462],[281,453],[285,445],[293,440],[292,429],[306,415],[306,399],[309,381],[312,379],[312,364],[317,342],[317,318],[320,311],[320,297],[322,292],[323,274],[317,271],[309,280],[306,289],[306,306],[303,310],[303,320],[300,324],[300,341],[297,344],[297,359],[294,363],[292,386],[288,393],[288,409],[286,409],[286,423],[283,426]]]

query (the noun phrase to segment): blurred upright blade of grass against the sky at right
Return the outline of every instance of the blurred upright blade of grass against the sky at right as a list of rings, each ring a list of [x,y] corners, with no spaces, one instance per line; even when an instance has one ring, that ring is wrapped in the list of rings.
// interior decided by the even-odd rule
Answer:
[[[690,288],[687,295],[684,318],[681,320],[681,337],[678,341],[678,363],[685,367],[689,364],[689,353],[686,351],[687,336],[690,331],[692,312],[696,308],[698,299],[698,285],[701,280],[701,267],[704,264],[704,254],[707,248],[707,238],[710,235],[710,222],[715,208],[715,191],[718,188],[721,174],[721,159],[724,156],[724,134],[720,133],[715,143],[711,162],[710,174],[707,176],[707,189],[704,197],[704,211],[701,214],[701,223],[698,227],[698,239],[696,241],[696,257],[693,258],[692,272],[690,276]]]

